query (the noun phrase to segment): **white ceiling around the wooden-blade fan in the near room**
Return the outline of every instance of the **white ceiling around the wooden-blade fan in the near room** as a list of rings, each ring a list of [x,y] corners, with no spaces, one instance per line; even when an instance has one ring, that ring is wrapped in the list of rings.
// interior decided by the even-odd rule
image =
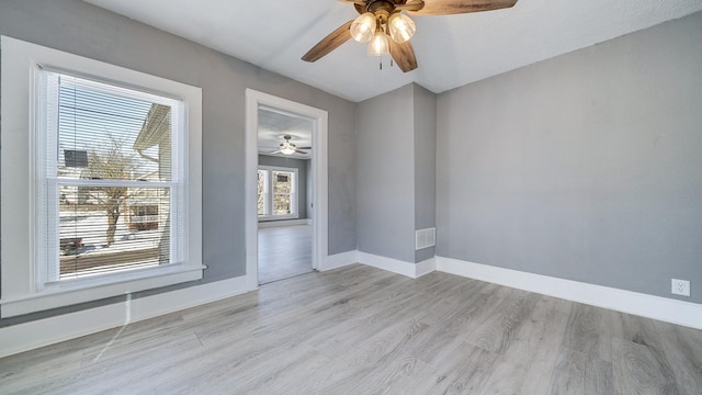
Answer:
[[[301,57],[358,16],[335,0],[86,0],[327,92],[362,101],[409,82],[440,93],[702,10],[702,0],[519,0],[511,9],[412,16],[419,68],[404,74],[349,41]],[[431,1],[431,0],[426,0]]]

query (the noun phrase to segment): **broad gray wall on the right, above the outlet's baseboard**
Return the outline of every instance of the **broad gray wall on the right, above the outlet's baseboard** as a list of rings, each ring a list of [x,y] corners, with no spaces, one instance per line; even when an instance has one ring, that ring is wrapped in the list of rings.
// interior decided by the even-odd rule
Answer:
[[[702,302],[702,13],[438,98],[437,255]]]

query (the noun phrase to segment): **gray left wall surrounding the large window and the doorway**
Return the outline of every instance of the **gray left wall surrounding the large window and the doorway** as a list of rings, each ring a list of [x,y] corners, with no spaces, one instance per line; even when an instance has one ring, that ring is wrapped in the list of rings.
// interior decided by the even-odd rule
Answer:
[[[79,0],[2,0],[0,34],[203,89],[202,283],[246,272],[247,88],[329,112],[329,253],[355,249],[354,103]]]

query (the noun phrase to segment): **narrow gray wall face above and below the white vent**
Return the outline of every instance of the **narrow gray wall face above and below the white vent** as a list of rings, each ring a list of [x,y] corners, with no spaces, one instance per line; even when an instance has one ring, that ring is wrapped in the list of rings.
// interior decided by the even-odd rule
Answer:
[[[437,97],[414,84],[415,109],[415,228],[437,225]],[[415,252],[415,262],[434,256],[434,247]]]

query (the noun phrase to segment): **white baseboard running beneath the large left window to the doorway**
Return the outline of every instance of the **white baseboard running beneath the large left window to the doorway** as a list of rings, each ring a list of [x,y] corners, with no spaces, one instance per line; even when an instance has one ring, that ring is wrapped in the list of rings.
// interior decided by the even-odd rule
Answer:
[[[247,291],[246,275],[242,275],[12,325],[0,328],[0,358],[236,296]]]

